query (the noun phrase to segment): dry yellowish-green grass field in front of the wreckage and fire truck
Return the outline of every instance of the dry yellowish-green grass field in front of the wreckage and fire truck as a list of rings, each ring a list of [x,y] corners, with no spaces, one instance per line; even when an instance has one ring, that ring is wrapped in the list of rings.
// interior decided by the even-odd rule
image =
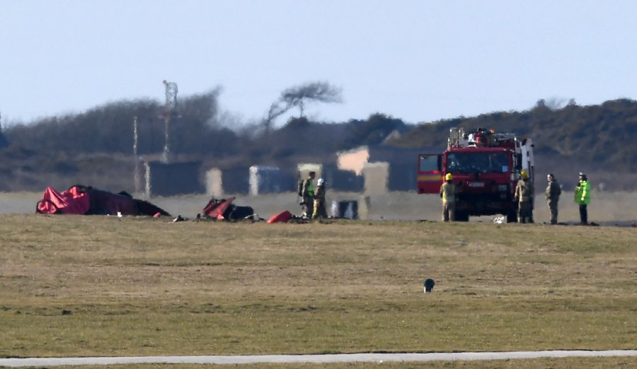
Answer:
[[[0,356],[635,349],[636,239],[539,224],[0,215]],[[430,365],[444,364],[409,366]]]

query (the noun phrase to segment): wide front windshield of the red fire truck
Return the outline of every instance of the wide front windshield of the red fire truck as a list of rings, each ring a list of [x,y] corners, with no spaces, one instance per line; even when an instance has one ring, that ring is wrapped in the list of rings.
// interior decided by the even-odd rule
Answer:
[[[449,153],[448,173],[505,173],[509,171],[506,153]]]

